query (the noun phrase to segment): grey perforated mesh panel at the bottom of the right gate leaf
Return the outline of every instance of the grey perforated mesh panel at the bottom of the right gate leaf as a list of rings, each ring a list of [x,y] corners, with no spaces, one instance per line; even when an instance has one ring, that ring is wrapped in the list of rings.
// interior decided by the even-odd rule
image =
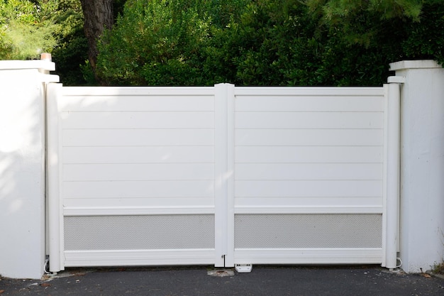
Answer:
[[[381,248],[381,214],[238,214],[235,248]]]

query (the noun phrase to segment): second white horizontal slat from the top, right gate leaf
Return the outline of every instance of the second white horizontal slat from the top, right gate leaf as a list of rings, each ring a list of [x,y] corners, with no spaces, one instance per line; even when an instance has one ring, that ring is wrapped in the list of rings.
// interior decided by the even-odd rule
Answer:
[[[383,128],[382,112],[236,112],[236,128]]]

